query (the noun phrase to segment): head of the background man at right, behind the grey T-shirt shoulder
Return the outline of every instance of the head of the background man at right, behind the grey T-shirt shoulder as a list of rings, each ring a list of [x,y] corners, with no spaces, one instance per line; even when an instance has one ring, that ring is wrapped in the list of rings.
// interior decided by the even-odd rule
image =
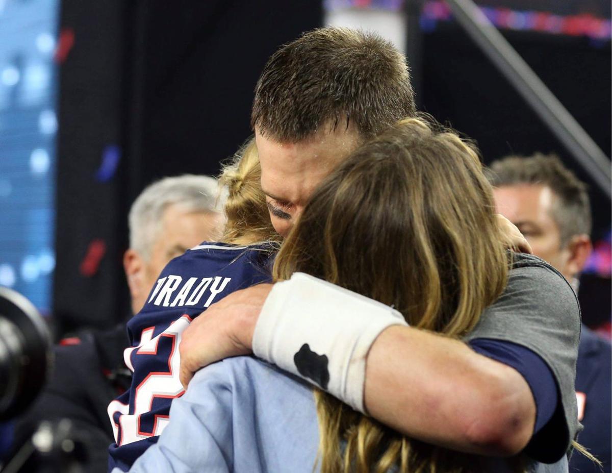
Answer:
[[[591,252],[586,185],[556,156],[509,156],[491,165],[496,207],[527,238],[534,254],[576,278]]]

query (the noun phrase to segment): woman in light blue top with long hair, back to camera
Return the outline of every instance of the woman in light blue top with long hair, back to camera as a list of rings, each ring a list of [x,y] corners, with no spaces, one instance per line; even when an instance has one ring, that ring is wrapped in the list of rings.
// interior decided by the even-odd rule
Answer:
[[[276,281],[299,273],[323,279],[392,306],[412,327],[461,339],[501,295],[512,258],[475,149],[455,132],[410,118],[354,151],[323,181],[283,243],[273,274]],[[327,363],[324,355],[307,355],[311,374]],[[318,382],[326,384],[323,377]],[[196,373],[174,401],[160,441],[132,471],[437,473],[540,466],[416,441],[324,392],[313,394],[274,366],[236,357]]]

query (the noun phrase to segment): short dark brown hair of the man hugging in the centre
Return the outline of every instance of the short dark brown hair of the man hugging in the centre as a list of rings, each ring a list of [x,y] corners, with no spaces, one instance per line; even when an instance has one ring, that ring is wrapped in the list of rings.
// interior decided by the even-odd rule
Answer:
[[[285,143],[309,137],[328,121],[334,129],[353,123],[370,138],[415,113],[408,64],[397,48],[373,33],[320,28],[268,60],[251,124]]]

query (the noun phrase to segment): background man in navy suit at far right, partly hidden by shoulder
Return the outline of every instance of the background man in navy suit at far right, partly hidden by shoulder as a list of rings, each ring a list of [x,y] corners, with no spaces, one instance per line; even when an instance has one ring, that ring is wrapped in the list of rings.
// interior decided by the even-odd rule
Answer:
[[[531,243],[535,255],[557,268],[578,292],[578,276],[591,252],[591,208],[586,185],[558,157],[509,156],[491,165],[497,211]],[[578,440],[612,469],[612,347],[582,325],[576,375]],[[573,455],[570,471],[597,472],[597,465]]]

